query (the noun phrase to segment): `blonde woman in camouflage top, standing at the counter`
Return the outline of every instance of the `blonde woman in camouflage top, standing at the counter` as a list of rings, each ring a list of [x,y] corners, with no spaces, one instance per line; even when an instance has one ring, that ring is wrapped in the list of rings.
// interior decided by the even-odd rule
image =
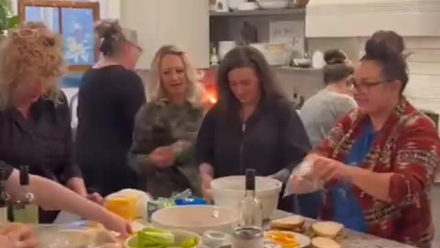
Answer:
[[[164,45],[153,59],[148,103],[137,113],[131,165],[155,197],[192,189],[199,178],[192,145],[205,112],[203,86],[185,52]]]

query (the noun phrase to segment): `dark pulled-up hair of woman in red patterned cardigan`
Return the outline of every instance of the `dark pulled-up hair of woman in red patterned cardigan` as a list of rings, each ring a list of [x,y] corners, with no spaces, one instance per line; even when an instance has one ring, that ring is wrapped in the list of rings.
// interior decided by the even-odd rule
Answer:
[[[399,36],[394,33],[393,36]],[[399,36],[400,37],[400,36]],[[401,38],[401,37],[400,37]],[[403,39],[401,39],[403,42]],[[406,55],[402,54],[403,46],[397,46],[390,39],[377,39],[371,37],[365,45],[365,55],[361,61],[372,60],[382,66],[382,76],[386,81],[401,81],[401,92],[405,90],[408,84],[408,63],[406,63]]]

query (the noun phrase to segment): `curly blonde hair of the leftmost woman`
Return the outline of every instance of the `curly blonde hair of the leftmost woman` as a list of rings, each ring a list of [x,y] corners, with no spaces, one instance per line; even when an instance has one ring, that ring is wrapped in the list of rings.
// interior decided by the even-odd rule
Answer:
[[[43,23],[22,23],[0,44],[0,110],[12,105],[17,85],[28,77],[44,83],[46,99],[61,103],[58,80],[66,71],[61,37]]]

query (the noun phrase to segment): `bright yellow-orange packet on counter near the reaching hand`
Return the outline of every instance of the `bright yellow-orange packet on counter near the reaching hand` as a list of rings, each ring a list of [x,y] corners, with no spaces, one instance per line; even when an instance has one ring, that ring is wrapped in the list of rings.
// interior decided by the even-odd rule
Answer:
[[[114,214],[131,221],[136,217],[137,199],[130,196],[115,196],[104,203],[104,207]]]

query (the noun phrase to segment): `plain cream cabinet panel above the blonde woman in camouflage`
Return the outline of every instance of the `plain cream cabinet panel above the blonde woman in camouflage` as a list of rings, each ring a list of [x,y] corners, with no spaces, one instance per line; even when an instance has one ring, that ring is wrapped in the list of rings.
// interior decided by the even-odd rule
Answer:
[[[196,68],[209,66],[209,6],[206,0],[120,1],[120,23],[137,32],[144,54],[137,67],[150,68],[162,45],[188,53]]]

